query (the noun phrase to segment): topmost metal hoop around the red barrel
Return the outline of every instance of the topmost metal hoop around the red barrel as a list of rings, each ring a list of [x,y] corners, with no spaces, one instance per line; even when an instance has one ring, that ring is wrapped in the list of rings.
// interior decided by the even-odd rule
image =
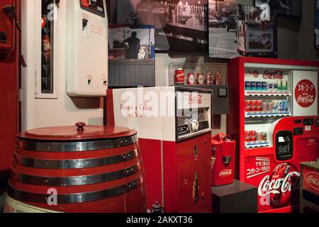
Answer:
[[[18,138],[16,147],[23,150],[42,152],[81,152],[90,150],[105,150],[111,148],[121,148],[138,142],[138,135],[126,138],[112,138],[85,141],[48,141],[48,140],[28,140]]]

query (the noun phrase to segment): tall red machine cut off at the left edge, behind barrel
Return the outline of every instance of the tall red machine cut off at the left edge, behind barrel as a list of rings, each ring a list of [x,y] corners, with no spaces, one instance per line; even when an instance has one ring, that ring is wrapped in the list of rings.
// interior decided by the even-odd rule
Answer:
[[[0,1],[0,177],[9,170],[18,132],[20,1]]]

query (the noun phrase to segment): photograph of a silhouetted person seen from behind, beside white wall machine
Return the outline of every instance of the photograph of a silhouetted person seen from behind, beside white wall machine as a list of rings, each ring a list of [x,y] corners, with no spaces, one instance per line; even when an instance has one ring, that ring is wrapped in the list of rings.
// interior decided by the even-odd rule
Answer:
[[[155,60],[154,27],[110,25],[108,60]]]

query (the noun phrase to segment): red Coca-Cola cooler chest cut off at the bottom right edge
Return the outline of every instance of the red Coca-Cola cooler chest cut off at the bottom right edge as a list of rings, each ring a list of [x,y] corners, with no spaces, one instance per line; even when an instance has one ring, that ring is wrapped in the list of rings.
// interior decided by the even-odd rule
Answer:
[[[301,163],[300,182],[301,213],[311,210],[319,212],[319,159]]]

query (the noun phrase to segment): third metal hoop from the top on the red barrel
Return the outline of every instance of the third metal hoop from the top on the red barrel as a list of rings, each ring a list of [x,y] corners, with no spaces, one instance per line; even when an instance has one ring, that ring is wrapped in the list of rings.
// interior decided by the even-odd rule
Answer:
[[[102,182],[110,182],[112,180],[129,177],[141,170],[141,165],[133,165],[123,170],[115,172],[107,172],[100,175],[86,175],[77,177],[38,177],[32,175],[24,175],[21,173],[14,173],[11,171],[11,177],[23,184],[33,184],[41,186],[80,186],[87,184],[99,184]]]

